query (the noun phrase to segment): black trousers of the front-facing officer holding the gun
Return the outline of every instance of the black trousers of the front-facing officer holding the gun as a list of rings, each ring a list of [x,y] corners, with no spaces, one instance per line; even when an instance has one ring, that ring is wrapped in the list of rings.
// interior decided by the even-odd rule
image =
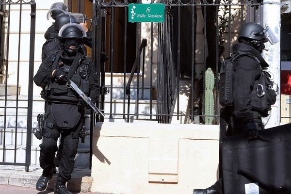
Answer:
[[[50,105],[49,105],[50,106]],[[43,176],[51,177],[54,167],[54,157],[57,151],[57,140],[62,134],[64,138],[64,146],[61,161],[59,164],[59,176],[62,182],[66,182],[71,178],[71,173],[74,169],[75,156],[77,154],[79,134],[82,129],[82,117],[79,123],[72,129],[60,129],[55,125],[50,107],[46,110],[47,120],[46,128],[43,131],[43,143],[40,144],[40,167],[43,169]],[[73,105],[72,105],[73,106]],[[62,110],[60,110],[62,111]],[[69,116],[69,115],[68,115]],[[52,125],[50,125],[52,124]]]

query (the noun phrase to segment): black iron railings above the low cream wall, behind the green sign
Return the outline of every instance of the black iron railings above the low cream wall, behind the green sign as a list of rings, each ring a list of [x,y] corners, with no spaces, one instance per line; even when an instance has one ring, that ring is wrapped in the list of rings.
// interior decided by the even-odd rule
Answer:
[[[99,67],[101,75],[100,108],[104,110],[105,118],[110,120],[119,115],[129,122],[130,118],[140,119],[143,116],[143,119],[146,117],[147,120],[170,123],[172,119],[185,116],[189,120],[188,123],[195,123],[195,119],[198,119],[199,124],[207,121],[209,124],[219,124],[220,62],[230,55],[238,30],[243,23],[262,22],[262,1],[147,1],[165,4],[165,22],[136,23],[134,28],[130,27],[130,31],[135,31],[136,36],[133,36],[129,34],[129,25],[132,24],[128,22],[128,5],[142,2],[144,3],[141,0],[93,0],[95,47],[92,50],[92,59]],[[143,37],[145,32],[149,34],[146,40]],[[128,42],[133,38],[135,45],[129,48]],[[149,44],[145,44],[148,42]],[[146,54],[145,48],[147,48]],[[108,62],[99,63],[101,52],[109,55]],[[134,60],[128,60],[129,53],[134,55]],[[145,57],[147,71],[145,71]],[[129,66],[131,71],[128,70]],[[205,85],[205,78],[209,76],[206,75],[208,68],[211,69],[214,77],[211,80],[214,82],[214,88],[211,88],[212,97],[206,94],[208,86]],[[114,72],[118,72],[119,76],[122,75],[121,86],[114,85],[113,77],[116,76]],[[210,74],[211,72],[208,71]],[[130,84],[133,76],[135,76],[136,89]],[[145,101],[146,78],[150,80],[150,95],[147,98],[149,106],[148,112],[141,113],[139,107],[141,100]],[[110,84],[106,85],[105,80],[108,82],[109,79]],[[181,80],[188,80],[189,87],[181,86]],[[110,106],[105,107],[108,89],[113,93],[116,88],[123,93],[120,97],[123,109],[120,109],[120,112],[114,110],[114,106],[117,105],[113,95],[107,99]],[[132,102],[133,89],[136,95]],[[187,113],[182,114],[179,94],[183,92],[189,94],[190,103]],[[209,102],[209,99],[213,101]],[[153,111],[154,101],[156,111]],[[209,104],[212,104],[214,110],[212,113],[208,112]],[[130,106],[135,106],[134,113],[130,113]]]

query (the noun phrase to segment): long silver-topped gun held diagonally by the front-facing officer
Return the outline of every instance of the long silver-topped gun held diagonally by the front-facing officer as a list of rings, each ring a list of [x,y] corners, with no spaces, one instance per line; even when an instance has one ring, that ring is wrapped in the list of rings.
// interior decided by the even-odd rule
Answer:
[[[90,107],[90,109],[95,114],[99,113],[99,114],[101,114],[101,116],[104,117],[104,114],[95,106],[95,104],[91,101],[91,99],[85,95],[85,93],[76,85],[76,83],[74,83],[70,79],[66,79],[66,81],[67,81],[67,83],[65,84],[65,86],[67,88],[73,89],[79,95],[79,97],[82,98],[82,100],[84,101],[84,103],[86,105],[88,105]]]

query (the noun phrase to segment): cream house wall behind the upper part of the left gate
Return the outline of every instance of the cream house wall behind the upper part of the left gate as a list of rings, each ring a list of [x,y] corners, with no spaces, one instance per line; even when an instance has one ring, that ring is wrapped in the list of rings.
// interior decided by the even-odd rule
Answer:
[[[44,34],[52,23],[52,19],[47,20],[47,12],[49,7],[54,2],[64,2],[64,0],[35,0],[36,2],[36,23],[35,23],[35,48],[34,48],[34,75],[41,64],[41,49],[45,43]],[[8,9],[8,6],[6,6]],[[30,45],[30,22],[31,22],[31,7],[30,5],[22,5],[21,13],[21,38],[20,38],[20,54],[19,54],[19,69],[17,68],[18,61],[18,42],[19,42],[19,5],[11,5],[10,11],[10,37],[9,45],[7,45],[7,28],[8,17],[5,23],[5,47],[9,48],[8,53],[8,68],[4,68],[4,78],[2,83],[7,79],[8,84],[16,84],[17,71],[19,70],[19,86],[21,86],[20,95],[28,95],[28,74],[29,74],[29,45]],[[6,57],[6,54],[5,54]],[[8,77],[5,77],[8,70]],[[33,95],[39,95],[40,87],[34,84]]]

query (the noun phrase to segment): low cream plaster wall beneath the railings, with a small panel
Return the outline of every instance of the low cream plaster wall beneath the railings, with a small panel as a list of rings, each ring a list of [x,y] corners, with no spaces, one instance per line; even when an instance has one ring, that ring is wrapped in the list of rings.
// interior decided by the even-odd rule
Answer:
[[[218,138],[217,125],[97,123],[91,191],[192,194],[209,187],[217,180]]]

